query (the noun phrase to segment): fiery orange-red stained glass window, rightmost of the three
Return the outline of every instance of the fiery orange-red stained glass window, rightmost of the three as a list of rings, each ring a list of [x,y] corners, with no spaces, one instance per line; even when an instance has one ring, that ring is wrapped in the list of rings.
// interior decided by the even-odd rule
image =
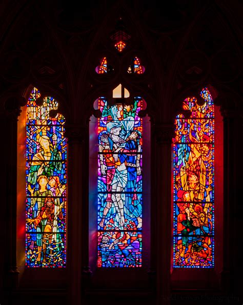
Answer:
[[[175,119],[174,267],[214,267],[214,105],[207,88],[204,103],[187,98]]]

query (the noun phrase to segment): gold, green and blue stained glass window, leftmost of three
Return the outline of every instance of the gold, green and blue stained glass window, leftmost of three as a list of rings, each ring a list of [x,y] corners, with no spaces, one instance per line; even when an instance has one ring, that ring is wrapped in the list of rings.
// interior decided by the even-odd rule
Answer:
[[[48,96],[43,105],[34,88],[27,103],[26,143],[26,266],[66,266],[65,118],[50,116],[57,101]]]

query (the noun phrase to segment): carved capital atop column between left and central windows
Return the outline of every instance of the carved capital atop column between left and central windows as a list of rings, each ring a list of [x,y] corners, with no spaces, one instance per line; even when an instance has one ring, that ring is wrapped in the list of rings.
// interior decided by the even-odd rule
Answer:
[[[86,126],[66,125],[65,130],[68,143],[83,143],[89,136],[89,129]]]

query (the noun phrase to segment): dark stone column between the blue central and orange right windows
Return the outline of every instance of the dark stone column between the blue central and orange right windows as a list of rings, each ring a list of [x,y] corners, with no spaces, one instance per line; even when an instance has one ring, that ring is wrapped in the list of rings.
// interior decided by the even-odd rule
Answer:
[[[171,173],[172,173],[172,136],[174,125],[155,125],[154,164],[152,174],[152,193],[155,192],[155,238],[151,248],[156,247],[157,304],[170,303],[170,264],[172,247],[171,230]],[[153,160],[152,160],[153,163]],[[153,200],[153,199],[152,199]]]

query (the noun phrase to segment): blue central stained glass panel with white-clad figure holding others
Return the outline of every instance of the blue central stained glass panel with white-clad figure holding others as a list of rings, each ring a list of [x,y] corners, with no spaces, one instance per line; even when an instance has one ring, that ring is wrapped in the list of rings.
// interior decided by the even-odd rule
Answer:
[[[98,267],[141,267],[143,99],[98,100]]]

